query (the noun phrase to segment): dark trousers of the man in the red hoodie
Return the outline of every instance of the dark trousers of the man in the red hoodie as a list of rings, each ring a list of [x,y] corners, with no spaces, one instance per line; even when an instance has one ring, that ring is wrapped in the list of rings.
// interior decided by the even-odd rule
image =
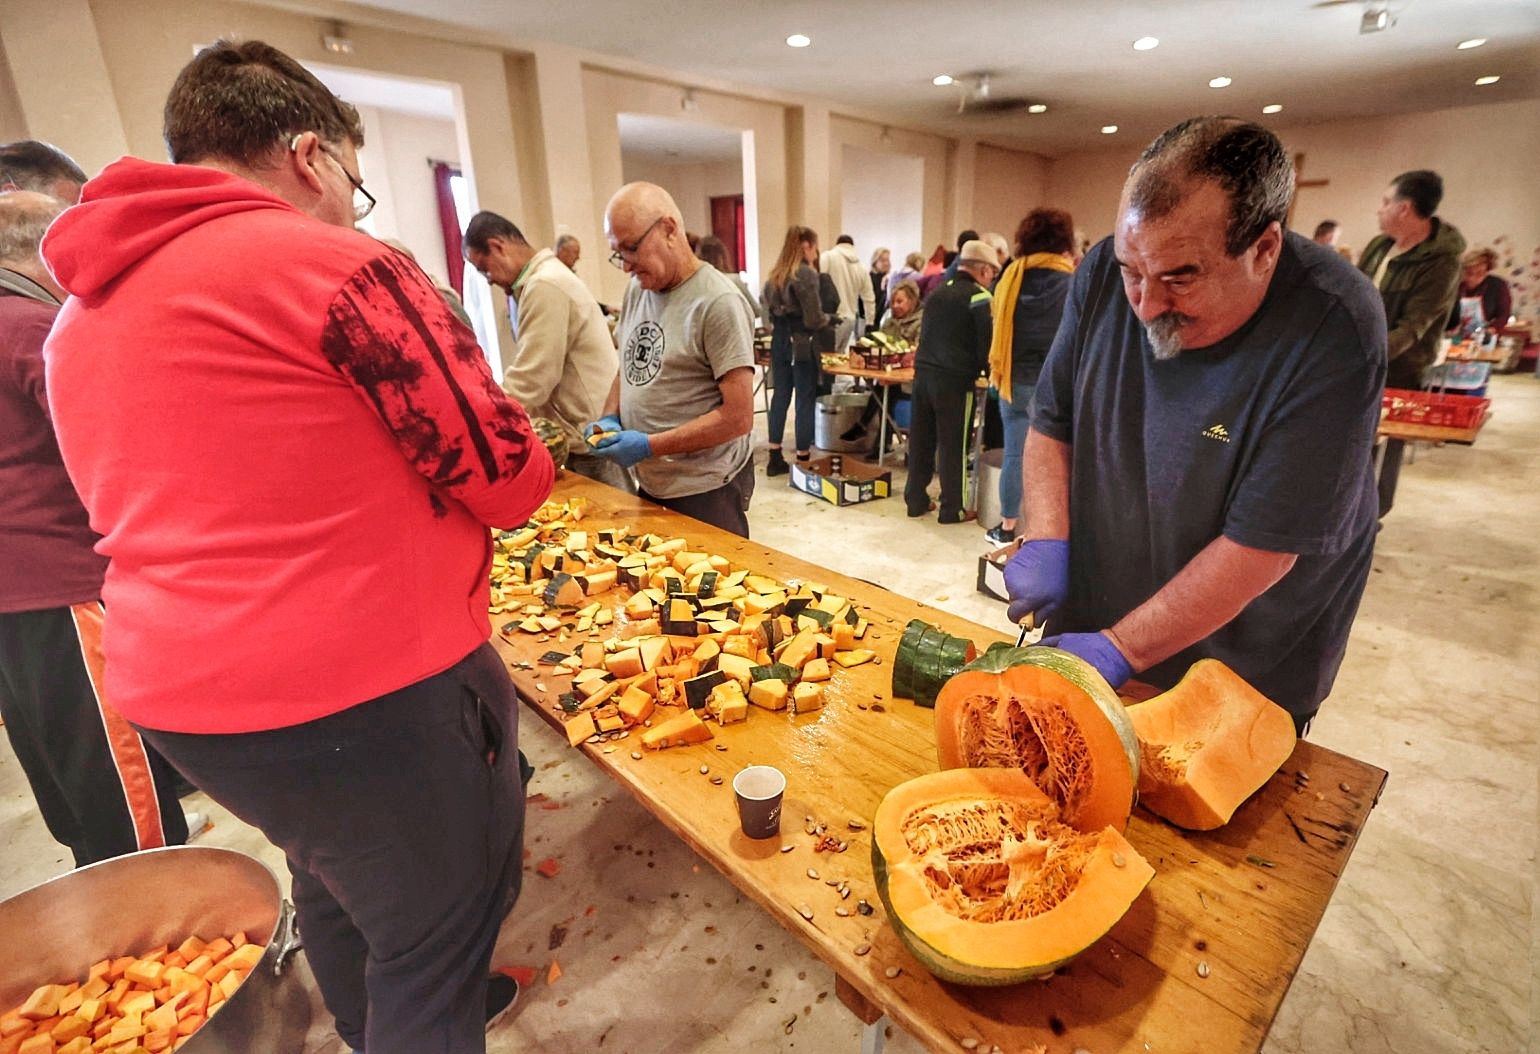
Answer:
[[[305,952],[368,1054],[485,1049],[487,972],[519,892],[517,701],[490,644],[424,681],[268,732],[145,730],[288,857]]]

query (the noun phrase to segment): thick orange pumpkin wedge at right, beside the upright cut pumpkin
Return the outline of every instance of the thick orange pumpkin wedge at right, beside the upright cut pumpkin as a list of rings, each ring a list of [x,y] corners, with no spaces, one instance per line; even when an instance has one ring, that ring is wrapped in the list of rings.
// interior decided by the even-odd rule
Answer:
[[[1140,803],[1178,827],[1212,831],[1294,754],[1294,718],[1218,660],[1129,707],[1140,737]]]

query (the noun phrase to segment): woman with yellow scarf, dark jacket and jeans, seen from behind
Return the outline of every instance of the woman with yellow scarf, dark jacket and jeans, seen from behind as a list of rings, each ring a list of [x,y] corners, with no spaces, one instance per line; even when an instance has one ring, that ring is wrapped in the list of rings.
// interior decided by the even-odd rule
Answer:
[[[1035,208],[1016,228],[1016,257],[995,284],[995,336],[989,382],[999,391],[1006,461],[999,473],[1001,522],[986,532],[1012,542],[1021,521],[1021,455],[1032,424],[1032,391],[1058,333],[1075,270],[1075,220],[1058,208]]]

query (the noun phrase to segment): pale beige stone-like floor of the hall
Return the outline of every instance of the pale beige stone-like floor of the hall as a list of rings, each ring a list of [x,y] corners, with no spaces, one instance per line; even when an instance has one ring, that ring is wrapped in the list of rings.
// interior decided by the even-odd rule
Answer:
[[[1540,1032],[1540,382],[1497,378],[1491,394],[1478,445],[1423,448],[1403,470],[1312,730],[1391,778],[1266,1054],[1512,1054]],[[833,509],[784,482],[759,479],[758,541],[1004,627],[1003,606],[973,592],[976,525],[909,521],[896,498]],[[562,869],[531,871],[504,928],[496,963],[542,980],[490,1051],[856,1051],[825,966],[544,724],[524,721],[524,746],[539,767],[531,790],[548,798],[530,811],[531,863]],[[186,806],[216,818],[203,843],[282,872],[253,829],[203,795]],[[68,866],[8,744],[0,844],[0,898]],[[553,960],[562,977],[547,985]],[[297,977],[313,989],[302,960]],[[319,1003],[305,1049],[342,1049]],[[918,1049],[898,1032],[889,1043]]]

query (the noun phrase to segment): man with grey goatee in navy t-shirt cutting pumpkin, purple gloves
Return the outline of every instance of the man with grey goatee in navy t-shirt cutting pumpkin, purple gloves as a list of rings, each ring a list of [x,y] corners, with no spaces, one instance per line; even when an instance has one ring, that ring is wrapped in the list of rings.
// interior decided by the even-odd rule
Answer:
[[[1260,125],[1146,148],[1038,382],[1006,584],[1113,686],[1217,658],[1303,730],[1369,576],[1386,331],[1368,279],[1284,233],[1292,193]]]

